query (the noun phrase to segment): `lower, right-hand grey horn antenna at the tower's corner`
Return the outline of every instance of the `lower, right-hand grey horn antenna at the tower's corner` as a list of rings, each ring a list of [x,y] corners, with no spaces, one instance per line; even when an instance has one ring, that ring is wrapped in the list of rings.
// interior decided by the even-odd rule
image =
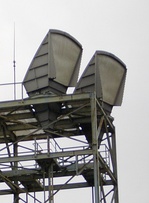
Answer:
[[[83,72],[76,88],[78,92],[96,92],[97,98],[111,106],[122,103],[126,66],[113,54],[96,51]]]

